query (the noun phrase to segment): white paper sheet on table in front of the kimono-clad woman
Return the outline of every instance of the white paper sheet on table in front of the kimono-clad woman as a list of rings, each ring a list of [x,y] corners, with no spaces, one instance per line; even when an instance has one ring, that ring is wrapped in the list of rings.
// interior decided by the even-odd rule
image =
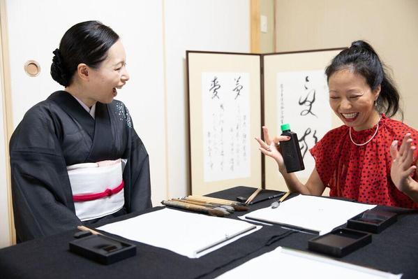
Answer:
[[[98,229],[197,258],[260,228],[244,221],[164,208]]]

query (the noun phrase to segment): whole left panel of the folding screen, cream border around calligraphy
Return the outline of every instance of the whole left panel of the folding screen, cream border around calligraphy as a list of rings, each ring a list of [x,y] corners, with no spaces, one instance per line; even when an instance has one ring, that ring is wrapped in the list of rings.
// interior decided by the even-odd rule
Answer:
[[[262,186],[260,55],[187,51],[192,194]]]

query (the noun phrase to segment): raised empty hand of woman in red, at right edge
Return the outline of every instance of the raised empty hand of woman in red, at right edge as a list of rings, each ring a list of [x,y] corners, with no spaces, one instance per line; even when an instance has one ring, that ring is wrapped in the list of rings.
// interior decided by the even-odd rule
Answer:
[[[401,148],[398,150],[398,141],[394,141],[390,147],[390,155],[393,159],[390,175],[394,185],[399,191],[410,196],[411,192],[418,191],[418,183],[411,178],[411,174],[417,169],[414,162],[415,146],[412,146],[411,134],[403,137]]]

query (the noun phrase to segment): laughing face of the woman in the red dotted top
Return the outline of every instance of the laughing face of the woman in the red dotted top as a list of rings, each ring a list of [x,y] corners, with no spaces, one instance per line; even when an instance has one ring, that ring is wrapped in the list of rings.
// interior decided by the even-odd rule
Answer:
[[[374,103],[380,85],[371,90],[366,78],[345,68],[329,77],[328,87],[329,105],[348,127],[360,131],[370,129],[378,122],[379,114]]]

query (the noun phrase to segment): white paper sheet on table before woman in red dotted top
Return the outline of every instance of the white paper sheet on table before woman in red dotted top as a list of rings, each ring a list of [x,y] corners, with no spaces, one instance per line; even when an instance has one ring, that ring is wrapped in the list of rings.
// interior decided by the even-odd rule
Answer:
[[[318,231],[322,235],[327,234],[341,224],[345,224],[348,219],[362,213],[364,210],[374,207],[375,205],[370,204],[299,194],[299,196],[283,201],[278,208],[269,206],[248,213],[244,217],[247,220],[252,218],[264,222],[290,224],[291,226]]]

